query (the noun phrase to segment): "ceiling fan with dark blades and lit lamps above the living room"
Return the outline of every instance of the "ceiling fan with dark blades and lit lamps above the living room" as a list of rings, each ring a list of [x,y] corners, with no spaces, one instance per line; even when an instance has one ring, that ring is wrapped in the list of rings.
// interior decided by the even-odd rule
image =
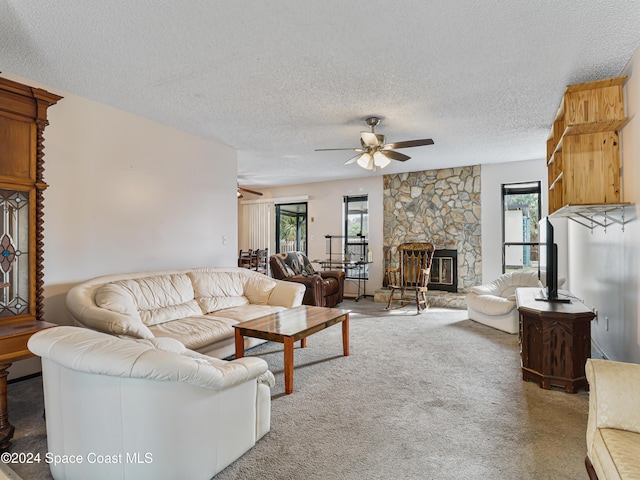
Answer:
[[[376,133],[376,127],[380,123],[380,117],[367,118],[367,125],[371,127],[370,132],[360,132],[360,147],[356,148],[317,148],[316,152],[326,152],[335,150],[353,150],[358,152],[353,158],[345,162],[345,165],[357,162],[362,168],[375,171],[376,167],[384,168],[391,163],[391,160],[406,162],[411,157],[400,152],[398,148],[421,147],[433,145],[433,140],[423,138],[421,140],[407,140],[405,142],[385,143],[385,137]]]

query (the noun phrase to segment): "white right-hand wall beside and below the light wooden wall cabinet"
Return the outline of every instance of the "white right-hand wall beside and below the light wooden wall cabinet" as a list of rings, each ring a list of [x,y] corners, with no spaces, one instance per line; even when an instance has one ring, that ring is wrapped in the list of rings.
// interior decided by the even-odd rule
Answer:
[[[640,49],[622,72],[627,116],[621,130],[622,200],[640,201]],[[637,205],[625,209],[624,231],[617,225],[589,229],[569,223],[571,291],[598,310],[592,338],[612,360],[640,363],[640,225]]]

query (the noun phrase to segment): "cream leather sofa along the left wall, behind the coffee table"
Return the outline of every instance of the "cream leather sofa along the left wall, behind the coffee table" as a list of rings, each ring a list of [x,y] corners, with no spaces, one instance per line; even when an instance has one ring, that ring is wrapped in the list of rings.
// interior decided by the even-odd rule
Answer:
[[[197,268],[107,275],[66,297],[74,324],[112,335],[170,337],[188,349],[226,358],[233,325],[302,304],[305,287],[246,268]],[[245,348],[264,340],[245,338]]]

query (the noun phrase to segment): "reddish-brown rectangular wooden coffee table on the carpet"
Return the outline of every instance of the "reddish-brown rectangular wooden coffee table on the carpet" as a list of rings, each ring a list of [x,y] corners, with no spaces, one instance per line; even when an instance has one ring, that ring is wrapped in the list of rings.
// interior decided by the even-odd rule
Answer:
[[[284,390],[293,392],[293,344],[307,346],[307,337],[342,322],[342,350],[349,356],[349,313],[339,308],[301,307],[238,323],[235,328],[236,358],[244,357],[244,338],[253,337],[284,344]]]

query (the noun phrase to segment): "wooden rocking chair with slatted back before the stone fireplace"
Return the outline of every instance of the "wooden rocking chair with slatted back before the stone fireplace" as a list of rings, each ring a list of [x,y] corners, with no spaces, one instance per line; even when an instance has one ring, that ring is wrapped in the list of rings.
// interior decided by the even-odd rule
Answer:
[[[431,243],[403,243],[398,246],[398,268],[387,269],[387,281],[391,294],[387,303],[387,310],[401,308],[412,300],[404,298],[405,290],[415,293],[415,303],[418,313],[429,308],[427,302],[427,285],[431,275],[431,262],[433,261],[433,245]],[[395,298],[396,292],[400,293]],[[399,305],[392,307],[392,303]]]

